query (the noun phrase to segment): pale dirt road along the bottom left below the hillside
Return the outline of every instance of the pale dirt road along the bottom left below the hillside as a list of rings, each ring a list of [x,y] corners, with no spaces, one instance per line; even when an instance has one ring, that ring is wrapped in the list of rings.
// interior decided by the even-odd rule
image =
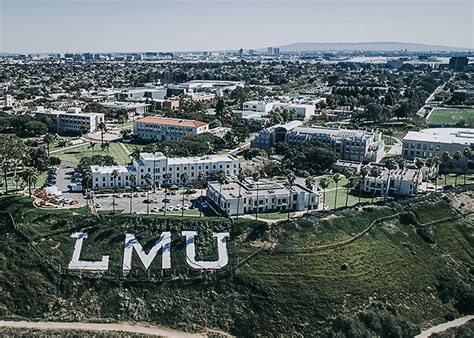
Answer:
[[[94,324],[94,323],[65,323],[65,322],[27,322],[0,321],[0,327],[24,329],[54,329],[54,330],[84,330],[84,331],[119,331],[136,334],[146,334],[158,337],[206,337],[203,334],[191,334],[153,325],[138,325],[128,323]]]

